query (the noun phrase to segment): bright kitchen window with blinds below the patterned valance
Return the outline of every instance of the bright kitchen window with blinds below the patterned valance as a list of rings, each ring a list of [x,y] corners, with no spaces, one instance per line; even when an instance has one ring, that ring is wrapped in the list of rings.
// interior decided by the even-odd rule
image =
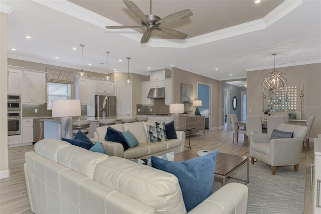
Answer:
[[[71,99],[71,84],[48,82],[47,97],[47,110],[52,110],[52,100]]]

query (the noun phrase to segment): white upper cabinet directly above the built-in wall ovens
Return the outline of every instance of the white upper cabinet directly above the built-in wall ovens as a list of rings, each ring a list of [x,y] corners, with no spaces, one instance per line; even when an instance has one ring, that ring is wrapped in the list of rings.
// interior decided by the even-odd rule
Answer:
[[[8,65],[8,94],[22,94],[23,67]]]

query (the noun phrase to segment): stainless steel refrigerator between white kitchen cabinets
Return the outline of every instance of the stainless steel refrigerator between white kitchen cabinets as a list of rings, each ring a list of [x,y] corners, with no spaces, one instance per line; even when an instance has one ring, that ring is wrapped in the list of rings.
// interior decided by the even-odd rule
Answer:
[[[116,117],[116,96],[95,95],[95,117]]]

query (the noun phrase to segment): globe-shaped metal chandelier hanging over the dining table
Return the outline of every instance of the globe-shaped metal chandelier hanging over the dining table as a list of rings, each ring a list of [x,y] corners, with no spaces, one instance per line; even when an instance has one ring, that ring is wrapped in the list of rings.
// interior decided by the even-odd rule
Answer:
[[[275,55],[272,54],[274,57],[274,65],[273,71],[271,73],[265,74],[262,79],[262,88],[269,91],[269,92],[277,92],[282,90],[287,85],[287,78],[283,72],[275,71]]]

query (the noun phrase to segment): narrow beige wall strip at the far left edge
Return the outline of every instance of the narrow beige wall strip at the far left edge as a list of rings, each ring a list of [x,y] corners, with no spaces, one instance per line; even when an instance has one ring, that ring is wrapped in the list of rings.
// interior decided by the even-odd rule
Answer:
[[[9,176],[7,124],[8,14],[0,12],[0,178]]]

